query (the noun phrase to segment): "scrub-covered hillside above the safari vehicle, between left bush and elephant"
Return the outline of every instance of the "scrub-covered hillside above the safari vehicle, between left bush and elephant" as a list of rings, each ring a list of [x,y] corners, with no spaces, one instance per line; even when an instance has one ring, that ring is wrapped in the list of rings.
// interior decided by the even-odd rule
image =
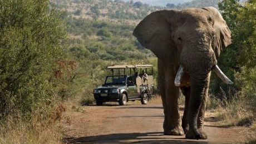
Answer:
[[[167,7],[151,7],[141,2],[120,0],[53,0],[52,2],[66,11],[71,55],[79,57],[79,60],[81,56],[85,56],[84,58],[127,61],[127,59],[145,59],[153,56],[132,36],[136,24],[147,14],[166,8],[216,7],[218,0],[196,0],[177,6],[169,4]]]

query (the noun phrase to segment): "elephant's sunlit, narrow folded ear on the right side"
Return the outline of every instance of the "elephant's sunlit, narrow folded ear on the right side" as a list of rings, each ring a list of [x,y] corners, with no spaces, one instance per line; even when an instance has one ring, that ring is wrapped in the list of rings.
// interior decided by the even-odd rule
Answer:
[[[205,7],[203,8],[206,11],[209,11],[213,14],[214,24],[213,28],[215,29],[215,38],[212,43],[214,52],[220,54],[223,48],[227,47],[232,43],[231,41],[231,32],[227,26],[227,23],[219,13],[219,11],[214,7]]]

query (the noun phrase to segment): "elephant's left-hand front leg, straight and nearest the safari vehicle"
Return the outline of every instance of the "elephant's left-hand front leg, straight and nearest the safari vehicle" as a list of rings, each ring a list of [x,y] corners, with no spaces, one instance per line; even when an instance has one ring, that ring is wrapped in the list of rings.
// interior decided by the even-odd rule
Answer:
[[[158,60],[158,86],[164,107],[164,134],[184,135],[179,115],[179,88],[174,85],[174,69]]]

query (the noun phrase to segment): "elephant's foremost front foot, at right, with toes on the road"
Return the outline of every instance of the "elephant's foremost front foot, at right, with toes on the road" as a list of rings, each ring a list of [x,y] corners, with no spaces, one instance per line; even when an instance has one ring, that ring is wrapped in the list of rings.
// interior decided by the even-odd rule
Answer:
[[[190,128],[189,131],[186,132],[186,138],[196,139],[196,140],[207,139],[207,135],[204,132],[204,130],[201,128],[198,130],[191,130],[191,128]]]

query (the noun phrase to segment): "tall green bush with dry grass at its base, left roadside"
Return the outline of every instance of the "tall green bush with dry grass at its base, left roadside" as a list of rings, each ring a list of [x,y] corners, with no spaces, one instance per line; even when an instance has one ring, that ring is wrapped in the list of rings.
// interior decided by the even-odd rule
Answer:
[[[0,143],[58,143],[66,29],[47,0],[0,1]]]

